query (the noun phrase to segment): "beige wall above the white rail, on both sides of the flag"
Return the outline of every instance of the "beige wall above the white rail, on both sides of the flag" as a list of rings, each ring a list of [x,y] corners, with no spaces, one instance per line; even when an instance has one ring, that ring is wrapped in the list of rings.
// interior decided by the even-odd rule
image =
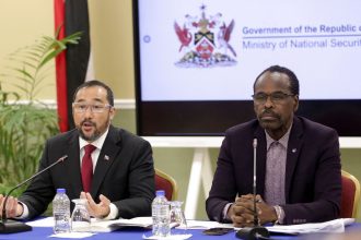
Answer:
[[[43,35],[54,35],[53,0],[0,1],[0,73],[5,58]],[[135,98],[131,0],[89,0],[95,79],[113,87],[116,98]],[[55,73],[39,99],[55,99]],[[5,86],[5,89],[13,89]]]

